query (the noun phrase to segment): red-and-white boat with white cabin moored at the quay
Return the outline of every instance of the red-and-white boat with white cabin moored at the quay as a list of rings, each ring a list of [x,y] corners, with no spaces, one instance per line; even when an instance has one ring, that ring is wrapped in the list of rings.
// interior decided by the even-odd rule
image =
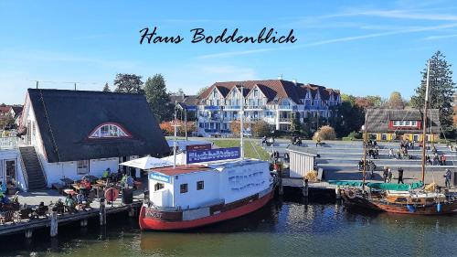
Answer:
[[[242,87],[240,94],[240,125],[243,128]],[[183,166],[174,163],[172,167],[155,168],[148,175],[149,193],[145,193],[140,211],[142,230],[195,229],[247,215],[273,198],[275,180],[271,176],[270,164],[244,158],[243,129],[240,130],[240,148],[202,151],[187,152],[186,163],[190,157],[199,156],[202,159],[216,155],[239,158]]]

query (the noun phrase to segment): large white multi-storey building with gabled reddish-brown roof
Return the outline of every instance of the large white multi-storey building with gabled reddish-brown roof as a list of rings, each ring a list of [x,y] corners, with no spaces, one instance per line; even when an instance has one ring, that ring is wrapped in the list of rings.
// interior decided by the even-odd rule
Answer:
[[[312,117],[329,119],[336,115],[335,110],[341,104],[339,91],[294,80],[216,82],[198,96],[197,134],[231,134],[230,123],[239,121],[241,88],[244,121],[263,120],[275,130],[290,130],[294,116],[301,123],[314,121]]]

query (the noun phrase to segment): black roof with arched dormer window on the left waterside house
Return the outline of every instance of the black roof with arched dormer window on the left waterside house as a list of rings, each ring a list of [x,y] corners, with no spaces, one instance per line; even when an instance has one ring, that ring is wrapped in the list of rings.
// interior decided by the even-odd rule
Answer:
[[[164,134],[141,94],[29,89],[48,162],[164,155]],[[119,123],[131,138],[89,139],[102,123]],[[50,133],[52,130],[52,134]]]

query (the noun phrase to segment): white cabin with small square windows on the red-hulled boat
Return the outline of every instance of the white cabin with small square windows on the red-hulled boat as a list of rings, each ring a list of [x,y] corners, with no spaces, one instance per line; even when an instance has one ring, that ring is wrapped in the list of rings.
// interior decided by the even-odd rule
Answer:
[[[154,206],[196,209],[248,198],[270,188],[268,162],[234,160],[157,168],[149,173]]]

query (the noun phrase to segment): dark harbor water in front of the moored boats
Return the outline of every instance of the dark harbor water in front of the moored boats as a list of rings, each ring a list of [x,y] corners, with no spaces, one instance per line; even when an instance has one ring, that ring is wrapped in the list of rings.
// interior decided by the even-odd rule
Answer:
[[[457,217],[368,214],[282,198],[248,216],[185,232],[141,232],[119,215],[101,228],[48,230],[0,241],[2,256],[456,256]]]

